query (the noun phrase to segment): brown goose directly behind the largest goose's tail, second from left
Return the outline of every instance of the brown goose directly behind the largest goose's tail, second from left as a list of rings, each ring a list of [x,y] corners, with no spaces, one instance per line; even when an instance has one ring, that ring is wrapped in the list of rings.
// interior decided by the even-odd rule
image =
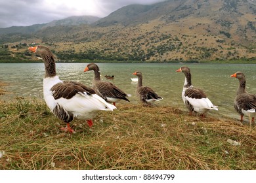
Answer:
[[[105,101],[113,103],[114,106],[121,100],[130,102],[129,99],[127,99],[128,95],[123,92],[123,90],[117,88],[117,86],[111,82],[100,80],[100,68],[98,65],[89,63],[84,69],[84,72],[87,71],[94,71],[95,77],[93,78],[93,89],[100,97],[105,99]]]

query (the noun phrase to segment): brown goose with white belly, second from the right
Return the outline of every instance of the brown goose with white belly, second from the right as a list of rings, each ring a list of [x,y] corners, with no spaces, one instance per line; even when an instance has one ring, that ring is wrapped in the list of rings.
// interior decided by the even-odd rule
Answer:
[[[185,81],[182,90],[182,100],[184,105],[186,105],[190,111],[190,115],[192,115],[192,112],[194,111],[205,117],[205,114],[209,110],[219,110],[217,106],[211,103],[203,90],[192,86],[191,73],[188,67],[183,66],[176,72],[182,72],[185,75]]]

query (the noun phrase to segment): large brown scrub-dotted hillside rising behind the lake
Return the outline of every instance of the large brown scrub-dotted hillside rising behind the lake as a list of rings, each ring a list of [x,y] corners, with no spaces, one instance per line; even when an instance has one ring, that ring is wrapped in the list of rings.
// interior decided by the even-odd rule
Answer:
[[[74,61],[255,60],[255,19],[252,0],[170,0],[119,8],[91,25],[1,36],[0,43],[48,44],[58,59]]]

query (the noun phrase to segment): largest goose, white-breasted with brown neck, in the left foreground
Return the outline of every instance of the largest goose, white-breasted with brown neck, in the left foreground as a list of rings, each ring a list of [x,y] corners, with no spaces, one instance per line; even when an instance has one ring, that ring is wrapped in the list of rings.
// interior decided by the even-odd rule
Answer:
[[[47,46],[39,45],[28,48],[31,52],[38,54],[45,65],[45,76],[43,78],[43,97],[51,112],[66,123],[61,129],[66,132],[75,133],[70,127],[72,120],[86,120],[89,127],[93,125],[99,110],[113,111],[116,107],[106,103],[98,96],[92,88],[80,82],[62,81],[56,75],[56,65],[53,53]]]

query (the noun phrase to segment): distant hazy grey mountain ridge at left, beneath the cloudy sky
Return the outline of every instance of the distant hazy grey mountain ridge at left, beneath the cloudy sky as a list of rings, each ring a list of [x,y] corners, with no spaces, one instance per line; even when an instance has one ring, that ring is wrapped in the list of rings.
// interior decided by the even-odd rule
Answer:
[[[54,27],[58,25],[83,25],[83,24],[93,24],[100,18],[96,16],[70,16],[62,20],[53,20],[47,24],[35,24],[30,26],[12,26],[7,28],[0,28],[0,35],[6,33],[20,33],[20,34],[30,34],[35,33],[45,27]]]

